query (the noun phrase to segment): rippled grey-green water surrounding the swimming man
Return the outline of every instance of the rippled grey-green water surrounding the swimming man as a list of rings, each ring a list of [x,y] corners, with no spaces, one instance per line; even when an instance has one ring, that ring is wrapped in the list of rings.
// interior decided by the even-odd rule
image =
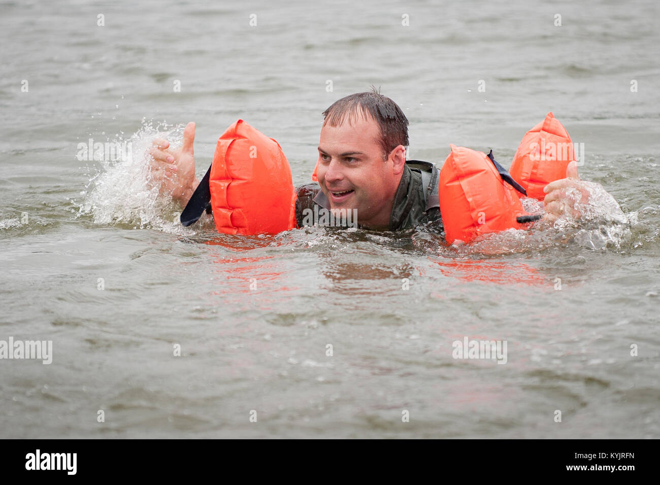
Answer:
[[[53,342],[52,364],[0,360],[0,437],[659,437],[659,14],[0,3],[0,340]],[[454,143],[508,167],[554,112],[624,217],[458,247],[226,236],[182,228],[146,183],[158,133],[196,121],[201,176],[238,118],[310,181],[321,112],[370,84],[439,166]],[[81,161],[89,139],[131,154]],[[453,358],[464,337],[506,340],[506,364]]]

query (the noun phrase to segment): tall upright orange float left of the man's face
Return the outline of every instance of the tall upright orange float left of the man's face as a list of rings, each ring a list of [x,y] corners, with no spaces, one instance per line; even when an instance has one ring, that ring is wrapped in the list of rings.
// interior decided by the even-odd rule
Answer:
[[[275,139],[242,119],[218,139],[209,190],[218,232],[277,234],[296,227],[288,160]]]

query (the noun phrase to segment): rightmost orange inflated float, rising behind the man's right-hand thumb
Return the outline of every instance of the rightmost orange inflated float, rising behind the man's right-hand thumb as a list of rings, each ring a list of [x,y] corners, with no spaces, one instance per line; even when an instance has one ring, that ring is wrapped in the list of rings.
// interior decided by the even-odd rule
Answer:
[[[575,160],[573,143],[562,123],[548,113],[545,120],[525,133],[513,156],[511,176],[527,190],[527,197],[543,201],[543,187],[566,177]]]

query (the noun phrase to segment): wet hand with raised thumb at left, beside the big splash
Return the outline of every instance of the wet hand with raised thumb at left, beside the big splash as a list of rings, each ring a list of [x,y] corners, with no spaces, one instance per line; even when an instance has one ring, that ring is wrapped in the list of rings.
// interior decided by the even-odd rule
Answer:
[[[172,199],[185,206],[199,181],[195,178],[195,123],[185,125],[181,148],[170,148],[166,139],[155,139],[149,148],[151,181],[158,185],[160,193],[172,195]]]

